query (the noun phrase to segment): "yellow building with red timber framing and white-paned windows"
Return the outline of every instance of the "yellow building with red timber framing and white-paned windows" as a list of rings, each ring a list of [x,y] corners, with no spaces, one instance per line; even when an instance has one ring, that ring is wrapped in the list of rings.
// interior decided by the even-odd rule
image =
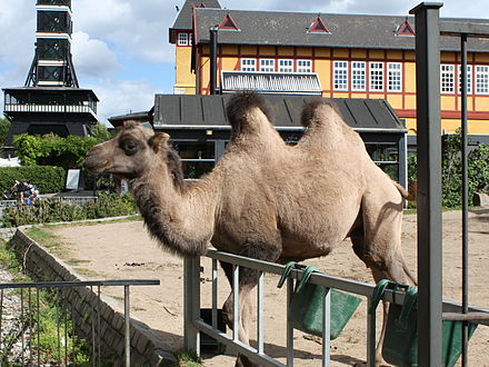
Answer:
[[[262,91],[292,92],[287,80],[309,76],[323,97],[387,99],[416,133],[413,23],[411,17],[228,10],[216,0],[187,0],[170,29],[174,93],[209,93],[210,28],[217,26],[221,92],[267,82]],[[441,37],[440,49],[440,132],[451,133],[460,126],[459,41]],[[489,142],[489,40],[469,39],[468,50],[468,129],[472,142]]]

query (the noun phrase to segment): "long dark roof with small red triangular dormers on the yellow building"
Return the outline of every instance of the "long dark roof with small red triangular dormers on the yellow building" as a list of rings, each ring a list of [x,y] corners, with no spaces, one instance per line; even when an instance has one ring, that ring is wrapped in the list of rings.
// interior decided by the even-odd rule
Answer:
[[[196,10],[196,43],[209,42],[209,28],[220,24],[227,14],[230,14],[239,31],[220,30],[220,43],[415,49],[415,37],[396,34],[406,19],[416,31],[412,17],[320,14],[329,30],[329,33],[325,33],[308,31],[317,21],[318,13],[206,8]],[[441,20],[489,24],[488,19]],[[455,37],[442,37],[440,47],[442,50],[459,50],[460,41]],[[468,50],[489,52],[489,40],[470,38]]]

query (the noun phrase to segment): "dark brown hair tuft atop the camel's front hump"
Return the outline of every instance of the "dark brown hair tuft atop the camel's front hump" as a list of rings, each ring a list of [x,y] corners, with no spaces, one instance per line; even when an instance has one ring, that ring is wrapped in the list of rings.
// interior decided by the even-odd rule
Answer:
[[[253,108],[259,108],[270,122],[273,121],[271,108],[263,96],[253,92],[239,92],[230,98],[226,112],[233,133],[239,133],[242,127],[250,122],[246,117]]]

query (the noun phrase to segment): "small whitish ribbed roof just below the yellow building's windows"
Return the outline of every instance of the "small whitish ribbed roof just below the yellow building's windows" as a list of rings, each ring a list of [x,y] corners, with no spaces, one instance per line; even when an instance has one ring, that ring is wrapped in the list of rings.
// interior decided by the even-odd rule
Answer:
[[[222,92],[255,90],[263,93],[321,95],[317,73],[222,71]]]

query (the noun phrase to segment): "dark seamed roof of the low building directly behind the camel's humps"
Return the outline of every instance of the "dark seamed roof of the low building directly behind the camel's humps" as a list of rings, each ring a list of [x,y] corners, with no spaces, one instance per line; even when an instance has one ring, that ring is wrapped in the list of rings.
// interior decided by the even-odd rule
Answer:
[[[303,105],[318,97],[263,95],[275,112],[275,125],[300,129]],[[229,128],[226,117],[227,96],[156,95],[154,128]],[[353,129],[389,129],[403,131],[390,105],[383,99],[329,98],[337,105],[345,121]]]

